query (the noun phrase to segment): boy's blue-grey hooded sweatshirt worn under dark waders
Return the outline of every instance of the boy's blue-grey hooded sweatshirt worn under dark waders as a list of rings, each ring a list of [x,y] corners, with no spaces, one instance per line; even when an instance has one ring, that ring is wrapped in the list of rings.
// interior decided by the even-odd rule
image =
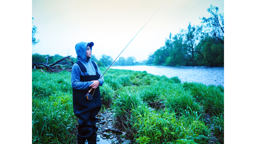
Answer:
[[[86,47],[87,47],[86,42],[80,42],[78,44],[76,44],[75,49],[76,49],[76,54],[77,54],[77,60],[79,60],[87,69],[87,72],[89,75],[96,75],[96,71],[94,66],[92,65],[91,60],[89,59],[89,61],[87,61],[87,57],[86,57]],[[102,73],[96,63],[97,69],[98,69],[98,73],[100,74],[100,76],[102,76]],[[89,86],[93,83],[93,82],[81,82],[80,81],[80,76],[81,75],[85,75],[79,68],[78,64],[75,63],[72,67],[71,70],[71,85],[72,88],[77,89],[77,90],[86,90],[89,88]],[[103,85],[104,82],[104,78],[100,78],[98,80],[100,82],[100,86]]]

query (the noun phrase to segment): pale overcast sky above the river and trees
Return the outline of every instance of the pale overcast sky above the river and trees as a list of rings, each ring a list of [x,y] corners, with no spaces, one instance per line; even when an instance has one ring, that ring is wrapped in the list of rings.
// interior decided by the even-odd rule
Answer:
[[[201,25],[199,17],[210,16],[210,5],[224,13],[224,0],[32,0],[32,25],[40,40],[32,54],[76,57],[75,45],[83,41],[94,43],[97,59],[102,54],[115,59],[155,14],[119,56],[146,60],[170,33],[189,22]]]

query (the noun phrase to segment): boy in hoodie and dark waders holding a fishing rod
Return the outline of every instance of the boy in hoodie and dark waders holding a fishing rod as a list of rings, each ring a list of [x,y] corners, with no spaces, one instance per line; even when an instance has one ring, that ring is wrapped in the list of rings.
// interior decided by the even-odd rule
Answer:
[[[71,85],[73,88],[73,109],[78,120],[77,143],[84,144],[86,139],[88,144],[96,144],[98,121],[96,115],[101,109],[100,89],[104,78],[98,65],[91,61],[93,42],[80,42],[76,44],[77,62],[71,70]],[[91,89],[92,100],[84,96]]]

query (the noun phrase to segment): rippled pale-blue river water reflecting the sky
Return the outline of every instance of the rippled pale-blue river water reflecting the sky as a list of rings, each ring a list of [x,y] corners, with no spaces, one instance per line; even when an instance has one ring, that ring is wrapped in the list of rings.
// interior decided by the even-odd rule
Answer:
[[[224,67],[112,66],[112,69],[147,71],[168,78],[178,76],[181,82],[199,82],[224,86]]]

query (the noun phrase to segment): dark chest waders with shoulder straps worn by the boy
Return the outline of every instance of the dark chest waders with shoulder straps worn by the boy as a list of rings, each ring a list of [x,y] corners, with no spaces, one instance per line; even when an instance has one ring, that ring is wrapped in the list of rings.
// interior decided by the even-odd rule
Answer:
[[[98,80],[100,75],[97,71],[97,66],[94,62],[92,62],[97,75],[89,75],[85,66],[80,62],[76,62],[81,71],[85,73],[85,76],[80,76],[81,82],[88,82],[93,80]],[[73,109],[75,115],[79,118],[78,120],[78,141],[82,141],[83,144],[85,140],[90,140],[93,137],[97,137],[98,127],[96,126],[96,122],[98,118],[96,115],[101,109],[101,99],[100,99],[100,88],[99,86],[95,89],[93,93],[92,100],[88,100],[84,96],[90,90],[90,88],[86,90],[77,90],[73,88]],[[93,138],[94,139],[94,138]]]

